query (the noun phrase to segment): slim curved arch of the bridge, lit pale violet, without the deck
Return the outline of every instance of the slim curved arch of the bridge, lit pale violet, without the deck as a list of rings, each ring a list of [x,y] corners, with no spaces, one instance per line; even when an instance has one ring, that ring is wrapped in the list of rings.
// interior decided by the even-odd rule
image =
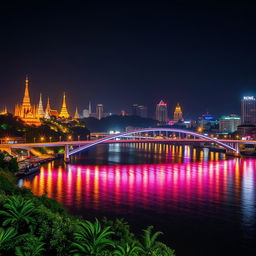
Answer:
[[[176,129],[176,128],[145,128],[145,129],[138,129],[138,130],[134,130],[134,131],[117,133],[114,135],[110,135],[110,136],[95,140],[92,143],[87,144],[85,146],[81,146],[81,147],[75,148],[73,150],[68,150],[67,157],[69,158],[69,156],[71,156],[71,155],[74,155],[74,154],[79,153],[85,149],[88,149],[90,147],[96,146],[100,143],[103,143],[103,142],[106,142],[106,141],[109,141],[112,139],[121,138],[121,137],[124,137],[127,135],[136,134],[136,133],[146,133],[146,132],[177,132],[177,133],[188,134],[188,135],[198,137],[200,139],[204,139],[205,141],[216,143],[217,145],[220,145],[220,146],[226,148],[227,150],[238,153],[238,150],[236,148],[231,147],[230,145],[223,143],[223,142],[219,141],[218,139],[213,139],[211,137],[205,136],[205,135],[197,133],[197,132],[183,130],[183,129]]]

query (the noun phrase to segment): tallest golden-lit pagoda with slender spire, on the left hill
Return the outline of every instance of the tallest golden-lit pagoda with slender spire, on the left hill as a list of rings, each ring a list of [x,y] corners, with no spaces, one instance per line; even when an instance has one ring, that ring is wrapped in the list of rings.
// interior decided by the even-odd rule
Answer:
[[[25,93],[22,104],[15,106],[14,115],[20,117],[28,125],[41,125],[38,117],[38,107],[32,106],[29,97],[28,76],[26,76]]]

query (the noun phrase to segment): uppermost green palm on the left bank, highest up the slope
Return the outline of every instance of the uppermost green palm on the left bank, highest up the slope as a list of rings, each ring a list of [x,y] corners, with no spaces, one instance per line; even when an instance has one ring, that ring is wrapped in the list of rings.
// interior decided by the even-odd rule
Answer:
[[[0,210],[0,214],[5,216],[3,226],[11,224],[16,231],[22,232],[22,227],[29,226],[35,221],[32,217],[34,212],[32,200],[25,201],[21,197],[12,196],[4,204],[4,208],[4,210]]]

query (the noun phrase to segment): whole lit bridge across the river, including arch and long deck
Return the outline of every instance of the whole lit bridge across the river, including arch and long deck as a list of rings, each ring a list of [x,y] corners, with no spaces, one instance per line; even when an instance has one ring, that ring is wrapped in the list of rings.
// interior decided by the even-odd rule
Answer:
[[[156,139],[156,134],[160,138]],[[149,136],[152,134],[152,136]],[[171,138],[170,135],[178,134],[178,138]],[[59,141],[59,142],[43,142],[43,143],[19,143],[19,144],[0,144],[0,150],[6,150],[8,152],[11,149],[19,148],[30,151],[31,148],[38,147],[64,147],[64,160],[69,161],[70,156],[82,152],[88,148],[94,147],[102,143],[152,143],[152,142],[184,142],[184,143],[198,143],[209,142],[214,143],[221,148],[224,148],[226,152],[239,155],[239,145],[244,144],[243,140],[220,140],[205,136],[201,133],[176,129],[176,128],[145,128],[133,131],[127,131],[117,133],[109,136],[105,136],[100,139],[91,141]],[[256,144],[256,141],[246,141],[246,144]]]

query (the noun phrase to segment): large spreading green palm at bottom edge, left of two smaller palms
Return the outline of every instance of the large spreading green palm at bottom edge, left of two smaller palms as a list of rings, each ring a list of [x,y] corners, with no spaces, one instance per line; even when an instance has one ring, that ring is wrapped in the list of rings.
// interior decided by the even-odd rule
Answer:
[[[107,247],[113,247],[114,243],[108,239],[113,232],[109,229],[110,227],[102,228],[97,219],[94,223],[79,223],[74,233],[75,242],[72,243],[75,255],[98,256]]]

